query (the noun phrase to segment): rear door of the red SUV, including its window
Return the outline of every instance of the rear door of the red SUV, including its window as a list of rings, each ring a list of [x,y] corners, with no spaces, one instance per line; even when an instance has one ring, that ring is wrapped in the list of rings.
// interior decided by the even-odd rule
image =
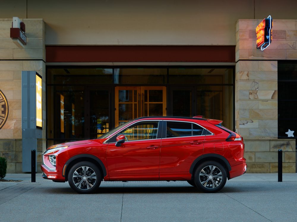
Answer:
[[[203,154],[205,130],[196,123],[163,121],[160,179],[190,179],[190,166]]]

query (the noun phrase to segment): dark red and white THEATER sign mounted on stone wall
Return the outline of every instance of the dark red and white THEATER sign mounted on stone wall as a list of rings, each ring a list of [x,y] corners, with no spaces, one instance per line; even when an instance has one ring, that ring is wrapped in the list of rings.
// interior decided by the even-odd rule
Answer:
[[[22,22],[18,17],[12,18],[12,28],[10,28],[10,38],[19,47],[27,45],[27,36],[25,35],[25,23]]]

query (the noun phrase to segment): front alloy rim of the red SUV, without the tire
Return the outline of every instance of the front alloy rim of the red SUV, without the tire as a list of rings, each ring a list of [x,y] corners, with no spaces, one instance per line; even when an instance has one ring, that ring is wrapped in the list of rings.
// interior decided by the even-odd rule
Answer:
[[[92,168],[81,166],[74,171],[72,180],[78,189],[88,190],[96,183],[97,175]]]

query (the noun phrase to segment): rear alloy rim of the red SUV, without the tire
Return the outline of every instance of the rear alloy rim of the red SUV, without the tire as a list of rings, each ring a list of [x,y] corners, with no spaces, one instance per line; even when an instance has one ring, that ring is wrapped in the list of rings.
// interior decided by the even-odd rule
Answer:
[[[217,188],[222,183],[222,172],[213,165],[204,167],[199,173],[199,180],[202,186],[207,189]]]

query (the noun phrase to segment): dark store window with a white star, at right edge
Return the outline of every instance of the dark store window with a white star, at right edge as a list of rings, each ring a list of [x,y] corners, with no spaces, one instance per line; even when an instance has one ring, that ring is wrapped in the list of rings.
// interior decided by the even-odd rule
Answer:
[[[278,137],[297,138],[297,61],[278,62]]]

